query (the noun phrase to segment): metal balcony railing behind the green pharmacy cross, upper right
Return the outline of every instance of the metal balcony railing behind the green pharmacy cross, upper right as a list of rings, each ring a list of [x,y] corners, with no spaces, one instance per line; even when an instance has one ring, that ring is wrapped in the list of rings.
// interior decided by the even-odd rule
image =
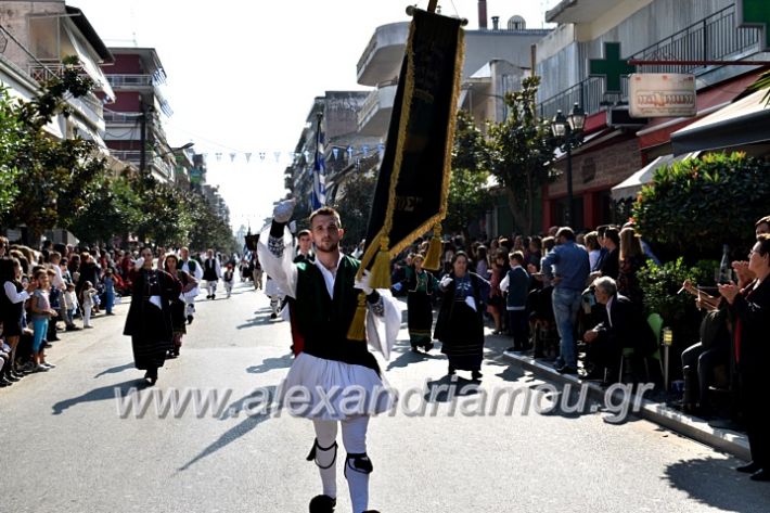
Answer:
[[[690,25],[672,36],[641,50],[629,59],[642,61],[681,60],[681,61],[717,61],[755,53],[759,50],[761,30],[757,27],[736,28],[735,5],[718,11],[706,18]],[[646,73],[694,73],[707,70],[702,65],[666,64],[644,66]],[[621,94],[605,94],[605,80],[602,77],[589,77],[543,100],[540,105],[540,116],[552,118],[556,111],[569,112],[575,103],[579,103],[586,114],[594,114],[616,100],[628,98],[628,78],[621,79]]]

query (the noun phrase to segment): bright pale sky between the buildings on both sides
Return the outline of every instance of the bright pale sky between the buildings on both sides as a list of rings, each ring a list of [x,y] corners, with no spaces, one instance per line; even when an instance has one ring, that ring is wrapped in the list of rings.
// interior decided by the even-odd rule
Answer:
[[[152,47],[166,70],[171,146],[207,154],[207,181],[234,229],[256,230],[282,198],[284,170],[313,99],[365,90],[356,64],[377,26],[407,22],[398,0],[67,0],[111,47]],[[557,0],[488,0],[504,26],[514,14],[543,26]],[[425,9],[427,0],[416,2]],[[441,11],[478,27],[477,0],[440,0]],[[110,105],[106,105],[110,108]],[[275,152],[280,152],[279,161]],[[221,154],[217,158],[216,154]],[[231,154],[235,158],[231,158]],[[246,153],[252,153],[246,162]],[[260,154],[265,158],[260,158]]]

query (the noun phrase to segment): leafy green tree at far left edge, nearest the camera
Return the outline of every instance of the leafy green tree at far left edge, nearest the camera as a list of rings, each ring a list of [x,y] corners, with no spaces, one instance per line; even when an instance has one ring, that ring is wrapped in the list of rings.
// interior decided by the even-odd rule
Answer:
[[[77,59],[67,57],[61,77],[41,84],[31,102],[5,103],[3,117],[11,118],[14,134],[5,136],[0,166],[22,169],[15,177],[17,193],[9,208],[0,209],[0,225],[25,223],[37,238],[55,226],[69,228],[93,194],[106,171],[104,159],[91,141],[80,138],[56,140],[44,131],[54,116],[69,115],[65,95],[88,94],[93,82],[82,76]],[[9,141],[10,138],[10,141]]]

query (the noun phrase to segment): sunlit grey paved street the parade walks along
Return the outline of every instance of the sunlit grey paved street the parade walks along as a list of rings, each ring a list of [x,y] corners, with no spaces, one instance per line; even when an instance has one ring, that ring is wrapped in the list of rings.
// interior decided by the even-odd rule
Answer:
[[[267,297],[240,285],[230,299],[200,300],[181,357],[161,370],[155,390],[232,390],[221,414],[201,418],[189,408],[161,419],[154,406],[139,419],[118,414],[116,387],[136,398],[150,393],[129,392],[142,373],[121,335],[126,311],[123,304],[116,317],[98,317],[94,330],[63,333],[49,352],[56,369],[0,390],[0,512],[307,511],[320,492],[316,466],[305,461],[311,423],[243,411],[255,388],[273,389],[292,362],[288,326],[269,319]],[[403,328],[395,355],[383,364],[390,384],[401,393],[426,381],[448,385],[446,359],[437,350],[413,355]],[[483,388],[542,385],[499,358],[506,345],[490,339]],[[735,473],[737,460],[645,421],[614,425],[605,422],[607,412],[590,407],[546,414],[532,408],[523,415],[518,405],[513,415],[462,415],[463,409],[477,410],[484,397],[467,389],[451,415],[447,393],[434,396],[418,393],[407,405],[436,408],[433,416],[409,416],[401,408],[372,421],[372,508],[770,511],[770,486]],[[342,471],[339,489],[337,511],[347,512]]]

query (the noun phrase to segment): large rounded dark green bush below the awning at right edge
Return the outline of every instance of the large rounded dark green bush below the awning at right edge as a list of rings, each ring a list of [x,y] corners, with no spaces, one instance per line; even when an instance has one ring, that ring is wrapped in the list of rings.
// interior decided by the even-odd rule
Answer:
[[[664,255],[718,258],[722,244],[743,255],[754,223],[769,214],[770,163],[744,153],[708,154],[658,168],[633,205],[633,219]]]

